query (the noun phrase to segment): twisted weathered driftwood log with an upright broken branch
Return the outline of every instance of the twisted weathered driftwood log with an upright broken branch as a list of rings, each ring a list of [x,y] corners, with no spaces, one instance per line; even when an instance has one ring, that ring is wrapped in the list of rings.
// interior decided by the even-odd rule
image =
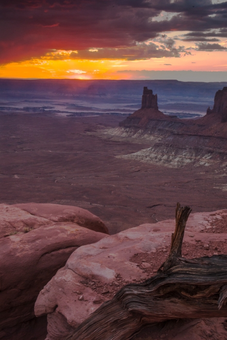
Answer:
[[[227,317],[227,256],[181,257],[187,206],[176,209],[171,250],[157,275],[129,284],[100,306],[68,340],[128,340],[146,324]]]

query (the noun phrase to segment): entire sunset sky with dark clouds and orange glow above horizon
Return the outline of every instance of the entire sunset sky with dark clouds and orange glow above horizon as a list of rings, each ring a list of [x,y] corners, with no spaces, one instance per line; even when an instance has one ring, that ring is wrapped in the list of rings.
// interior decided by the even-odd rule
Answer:
[[[227,1],[0,0],[1,78],[187,81],[182,71],[227,81]]]

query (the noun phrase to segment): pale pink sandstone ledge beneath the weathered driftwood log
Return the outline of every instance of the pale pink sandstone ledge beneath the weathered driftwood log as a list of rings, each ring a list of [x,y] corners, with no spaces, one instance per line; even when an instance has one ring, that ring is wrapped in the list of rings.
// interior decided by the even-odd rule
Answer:
[[[182,246],[186,258],[227,253],[227,210],[190,215]],[[77,249],[35,303],[48,316],[46,340],[62,340],[124,285],[157,272],[170,249],[175,220],[142,224]],[[133,340],[226,340],[224,318],[182,320],[147,328]]]

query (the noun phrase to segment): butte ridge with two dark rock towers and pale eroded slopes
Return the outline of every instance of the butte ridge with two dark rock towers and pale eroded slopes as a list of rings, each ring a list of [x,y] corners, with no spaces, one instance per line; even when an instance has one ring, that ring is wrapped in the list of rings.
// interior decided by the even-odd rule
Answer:
[[[157,95],[144,88],[141,109],[101,134],[108,138],[138,141],[144,138],[150,147],[136,153],[117,156],[170,168],[186,165],[227,165],[227,87],[218,90],[213,109],[199,119],[178,119],[158,109]]]

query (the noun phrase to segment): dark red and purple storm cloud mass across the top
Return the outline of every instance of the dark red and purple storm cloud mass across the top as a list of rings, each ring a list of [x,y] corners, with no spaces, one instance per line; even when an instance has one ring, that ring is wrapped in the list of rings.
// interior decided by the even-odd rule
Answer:
[[[162,11],[174,16],[170,20],[152,20]],[[212,4],[211,0],[0,0],[0,60],[39,57],[53,49],[76,50],[82,55],[92,47],[106,49],[108,57],[108,53],[114,52],[111,49],[138,49],[138,42],[166,31],[203,34],[211,29],[217,31],[213,38],[227,35],[227,1]],[[206,41],[198,40],[206,39],[202,35],[197,40],[195,35],[187,38]],[[174,51],[173,45],[170,49],[163,46],[164,49],[153,47],[153,51],[144,53],[153,55],[159,49],[163,50],[160,56],[165,53],[178,56],[180,51]],[[141,53],[135,53],[134,58],[138,54],[141,57]]]

